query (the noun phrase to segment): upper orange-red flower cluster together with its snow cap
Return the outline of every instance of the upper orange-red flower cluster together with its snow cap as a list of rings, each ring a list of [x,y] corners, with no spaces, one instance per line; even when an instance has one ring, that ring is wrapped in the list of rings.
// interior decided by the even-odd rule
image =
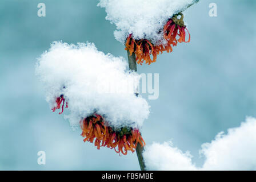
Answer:
[[[130,56],[134,53],[138,64],[150,65],[159,53],[190,42],[181,12],[195,2],[198,0],[101,0],[98,6],[105,7],[106,19],[117,26],[115,38],[125,44]]]

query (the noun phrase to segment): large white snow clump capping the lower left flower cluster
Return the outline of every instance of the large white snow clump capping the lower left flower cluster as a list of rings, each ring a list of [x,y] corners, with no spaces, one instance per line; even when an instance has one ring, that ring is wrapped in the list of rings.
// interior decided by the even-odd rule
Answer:
[[[116,127],[141,127],[149,115],[146,100],[134,94],[139,75],[129,73],[122,57],[105,55],[94,44],[54,42],[39,57],[36,73],[51,108],[63,94],[72,126],[95,111]]]

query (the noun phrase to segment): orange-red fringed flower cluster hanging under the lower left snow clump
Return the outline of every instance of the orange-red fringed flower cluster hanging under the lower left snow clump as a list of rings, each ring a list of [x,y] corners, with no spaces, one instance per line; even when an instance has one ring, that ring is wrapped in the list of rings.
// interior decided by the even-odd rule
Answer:
[[[101,147],[114,148],[118,154],[121,152],[121,154],[126,155],[127,151],[134,152],[138,143],[145,146],[145,141],[138,129],[133,129],[133,127],[115,129],[109,126],[105,119],[97,113],[82,119],[80,123],[81,135],[85,137],[83,141],[94,142],[98,150]]]

